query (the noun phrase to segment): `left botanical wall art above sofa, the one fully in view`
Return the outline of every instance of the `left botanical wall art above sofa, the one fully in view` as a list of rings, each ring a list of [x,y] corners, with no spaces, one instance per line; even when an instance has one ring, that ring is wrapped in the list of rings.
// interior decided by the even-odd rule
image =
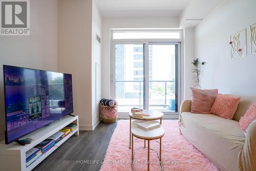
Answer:
[[[247,38],[246,29],[230,36],[230,56],[231,59],[237,59],[247,56]]]

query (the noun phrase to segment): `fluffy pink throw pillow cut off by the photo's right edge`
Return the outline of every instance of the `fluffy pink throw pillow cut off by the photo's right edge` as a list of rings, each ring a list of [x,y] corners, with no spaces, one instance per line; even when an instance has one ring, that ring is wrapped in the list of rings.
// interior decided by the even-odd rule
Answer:
[[[239,125],[242,131],[245,131],[249,124],[256,119],[256,102],[253,103],[246,111],[245,115],[239,120]]]

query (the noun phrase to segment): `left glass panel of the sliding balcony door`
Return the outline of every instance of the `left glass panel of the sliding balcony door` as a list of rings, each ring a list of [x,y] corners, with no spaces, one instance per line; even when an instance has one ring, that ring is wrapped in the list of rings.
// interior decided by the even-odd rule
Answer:
[[[115,44],[115,98],[119,111],[144,108],[144,44]]]

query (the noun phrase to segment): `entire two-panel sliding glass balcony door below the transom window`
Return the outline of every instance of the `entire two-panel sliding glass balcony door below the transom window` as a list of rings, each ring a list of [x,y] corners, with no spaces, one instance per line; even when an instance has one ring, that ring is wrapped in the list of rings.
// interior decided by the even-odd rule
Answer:
[[[115,42],[114,98],[119,112],[178,111],[178,49],[170,42]]]

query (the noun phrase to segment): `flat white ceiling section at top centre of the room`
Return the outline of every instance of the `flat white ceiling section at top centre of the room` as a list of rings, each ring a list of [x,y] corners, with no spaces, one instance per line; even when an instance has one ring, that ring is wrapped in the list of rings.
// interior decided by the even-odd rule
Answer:
[[[192,0],[95,0],[103,17],[180,16]]]

